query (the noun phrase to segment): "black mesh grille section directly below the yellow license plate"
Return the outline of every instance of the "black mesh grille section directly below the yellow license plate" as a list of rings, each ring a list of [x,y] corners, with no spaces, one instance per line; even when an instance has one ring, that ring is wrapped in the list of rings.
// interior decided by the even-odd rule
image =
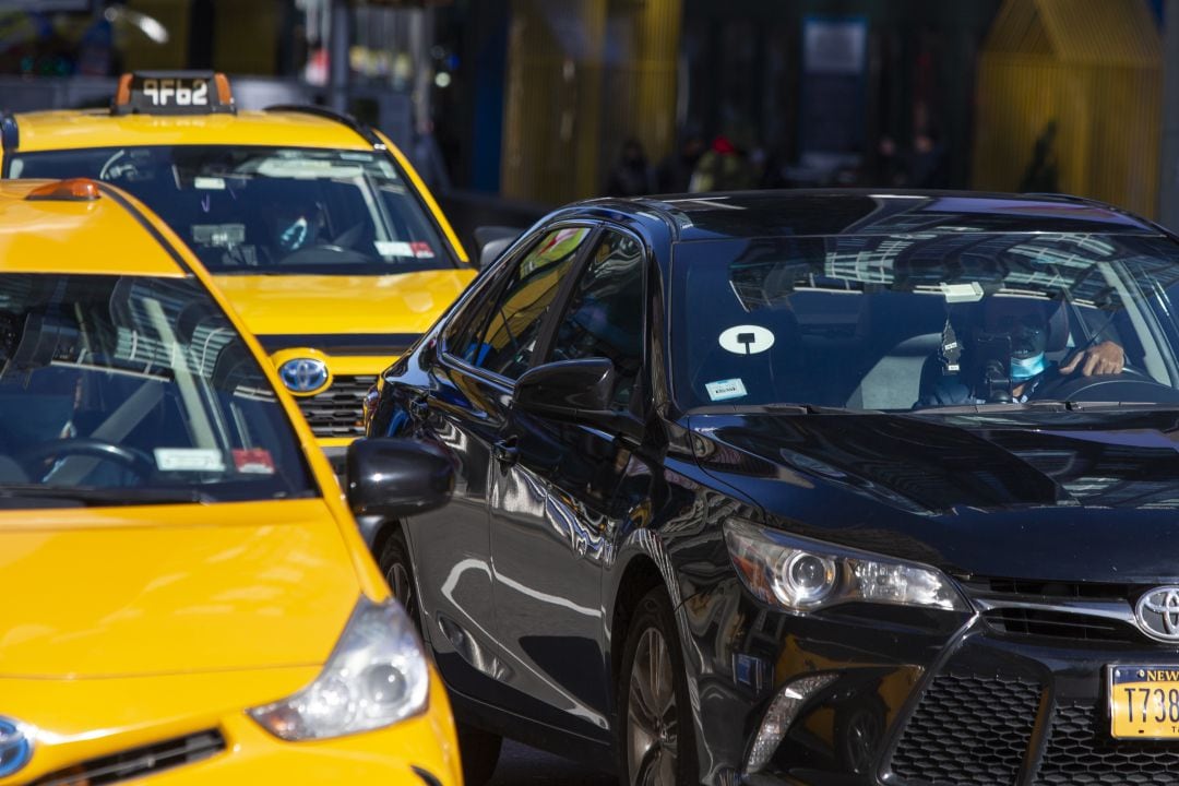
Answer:
[[[1173,742],[1114,740],[1107,724],[1092,705],[1058,707],[1035,786],[1174,786],[1179,781],[1179,748]]]

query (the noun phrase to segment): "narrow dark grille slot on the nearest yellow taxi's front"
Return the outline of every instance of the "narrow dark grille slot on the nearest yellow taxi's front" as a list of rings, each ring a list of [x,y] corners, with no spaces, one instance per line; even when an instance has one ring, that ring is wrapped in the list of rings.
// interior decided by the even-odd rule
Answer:
[[[108,757],[91,759],[67,770],[50,773],[29,786],[103,786],[132,778],[153,775],[164,770],[180,767],[225,749],[225,738],[212,729],[189,734],[165,742],[145,745]]]

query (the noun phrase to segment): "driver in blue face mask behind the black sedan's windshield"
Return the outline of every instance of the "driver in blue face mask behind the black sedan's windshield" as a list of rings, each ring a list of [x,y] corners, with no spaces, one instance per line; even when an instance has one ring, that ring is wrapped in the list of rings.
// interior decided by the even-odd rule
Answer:
[[[916,407],[1023,403],[1043,383],[1071,374],[1121,374],[1126,352],[1106,341],[1082,348],[1061,365],[1047,358],[1052,324],[1048,306],[1055,304],[1023,297],[989,297],[982,303],[980,325],[970,332],[956,372],[942,371],[941,362],[922,370],[921,398]],[[1058,330],[1062,328],[1058,325]],[[1063,344],[1063,336],[1056,337]],[[951,370],[951,369],[947,369]]]

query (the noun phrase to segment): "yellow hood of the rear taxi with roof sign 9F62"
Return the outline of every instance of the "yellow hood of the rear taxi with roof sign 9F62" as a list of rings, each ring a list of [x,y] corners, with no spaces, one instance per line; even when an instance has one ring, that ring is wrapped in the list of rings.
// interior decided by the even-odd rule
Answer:
[[[470,269],[394,276],[215,276],[258,336],[422,333],[466,289]]]

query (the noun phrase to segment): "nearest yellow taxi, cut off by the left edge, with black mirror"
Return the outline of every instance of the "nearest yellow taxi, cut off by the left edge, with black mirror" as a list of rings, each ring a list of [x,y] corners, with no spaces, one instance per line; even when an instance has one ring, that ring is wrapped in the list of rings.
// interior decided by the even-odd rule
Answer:
[[[461,782],[298,408],[133,197],[0,181],[0,785]],[[453,482],[389,440],[348,462],[357,511]]]

